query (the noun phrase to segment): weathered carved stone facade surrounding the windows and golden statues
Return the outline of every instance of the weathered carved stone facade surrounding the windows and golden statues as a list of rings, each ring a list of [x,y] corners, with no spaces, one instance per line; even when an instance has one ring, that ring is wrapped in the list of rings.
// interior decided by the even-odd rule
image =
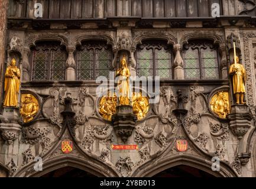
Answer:
[[[103,4],[103,1],[97,2]],[[124,1],[119,1],[121,2]],[[235,6],[236,4],[239,6]],[[12,13],[25,14],[21,11],[23,4],[11,6],[17,6],[20,10],[15,12],[12,9]],[[239,9],[244,7],[238,0],[223,1],[223,6],[225,15],[238,15]],[[235,9],[236,7],[239,9]],[[30,12],[31,15],[32,13]],[[103,17],[102,12],[97,14],[102,14]],[[129,11],[123,9],[117,14],[128,15]],[[221,18],[218,21],[141,21],[136,18],[118,18],[75,23],[40,22],[40,19],[26,23],[17,23],[11,19],[9,21],[7,41],[10,43],[14,39],[15,45],[9,45],[8,48],[22,58],[21,92],[33,94],[40,106],[32,122],[21,124],[20,133],[6,128],[1,133],[0,161],[8,165],[11,176],[40,176],[62,165],[70,165],[99,176],[144,177],[184,164],[216,176],[255,177],[256,35],[255,23],[250,18]],[[18,30],[21,28],[22,30]],[[66,30],[67,28],[70,30]],[[213,94],[221,90],[231,92],[227,73],[232,61],[232,49],[228,49],[227,38],[232,34],[238,38],[238,56],[248,75],[245,99],[250,113],[247,115],[247,106],[243,106],[246,112],[244,115],[238,113],[242,122],[240,128],[240,123],[231,125],[228,119],[218,118],[210,109]],[[28,55],[30,47],[37,41],[56,40],[65,45],[67,51],[71,52],[66,62],[69,68],[76,64],[72,53],[77,44],[84,40],[106,41],[115,54],[112,63],[114,69],[119,64],[116,57],[126,51],[129,52],[129,69],[132,76],[135,76],[134,51],[141,41],[150,39],[164,40],[173,46],[176,54],[174,65],[179,69],[174,70],[174,80],[161,81],[160,102],[150,105],[147,117],[137,122],[125,143],[119,135],[129,131],[124,129],[116,132],[111,122],[102,119],[98,110],[99,97],[96,96],[98,84],[94,81],[77,82],[74,69],[66,73],[66,81],[30,81],[32,63]],[[184,74],[180,74],[183,71],[180,51],[182,53],[183,45],[192,39],[209,39],[219,46],[221,79],[184,80]],[[181,103],[187,110],[182,116],[173,112],[179,106],[177,90],[182,91],[184,98]],[[64,112],[67,107],[64,99],[67,97],[72,97],[73,116],[66,116]],[[232,95],[230,99],[233,105]],[[73,141],[73,151],[70,154],[61,151],[64,139]],[[177,151],[177,139],[187,140],[189,148],[186,152]],[[111,146],[116,144],[136,144],[138,150],[115,150]],[[43,158],[43,171],[34,170],[35,157]],[[212,157],[221,160],[220,171],[211,170]]]

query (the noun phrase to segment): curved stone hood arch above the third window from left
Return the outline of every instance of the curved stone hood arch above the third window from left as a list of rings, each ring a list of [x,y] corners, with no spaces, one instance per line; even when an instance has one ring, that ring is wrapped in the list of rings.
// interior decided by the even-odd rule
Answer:
[[[154,33],[148,33],[148,34],[141,34],[135,37],[132,41],[132,48],[135,50],[138,44],[142,44],[142,41],[144,40],[164,40],[167,41],[167,44],[175,45],[177,43],[177,40],[173,35],[166,34],[163,32],[154,32]]]

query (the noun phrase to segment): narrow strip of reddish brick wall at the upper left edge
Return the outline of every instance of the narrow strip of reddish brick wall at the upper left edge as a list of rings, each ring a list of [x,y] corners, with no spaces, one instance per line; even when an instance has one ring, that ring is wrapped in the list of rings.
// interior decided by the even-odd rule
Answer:
[[[0,1],[0,100],[2,95],[2,71],[4,69],[4,54],[5,54],[5,31],[7,26],[7,7],[8,0]]]

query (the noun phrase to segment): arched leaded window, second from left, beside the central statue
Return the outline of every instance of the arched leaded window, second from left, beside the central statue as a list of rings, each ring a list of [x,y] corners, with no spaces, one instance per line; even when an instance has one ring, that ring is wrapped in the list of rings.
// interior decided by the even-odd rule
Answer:
[[[77,80],[96,80],[99,76],[109,78],[112,51],[102,41],[88,41],[77,48]]]

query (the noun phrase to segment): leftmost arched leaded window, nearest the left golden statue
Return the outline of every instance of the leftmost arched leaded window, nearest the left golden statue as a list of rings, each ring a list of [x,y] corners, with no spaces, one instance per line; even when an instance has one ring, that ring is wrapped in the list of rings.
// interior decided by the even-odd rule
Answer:
[[[40,42],[32,50],[32,80],[64,80],[67,53],[55,42]]]

